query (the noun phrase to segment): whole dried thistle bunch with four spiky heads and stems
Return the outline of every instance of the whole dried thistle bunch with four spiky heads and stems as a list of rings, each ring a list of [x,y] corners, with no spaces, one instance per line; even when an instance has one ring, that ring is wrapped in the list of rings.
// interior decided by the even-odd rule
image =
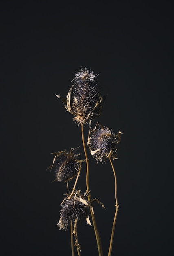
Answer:
[[[71,148],[70,151],[64,150],[53,153],[55,157],[53,159],[53,163],[48,167],[48,169],[54,171],[56,180],[58,182],[66,182],[68,189],[68,182],[76,177],[72,192],[70,193],[68,191],[68,193],[66,193],[66,197],[61,203],[62,209],[60,211],[60,218],[57,226],[63,231],[70,229],[72,256],[75,256],[74,246],[76,246],[77,253],[80,256],[81,246],[77,237],[77,227],[79,222],[83,222],[85,219],[87,223],[91,225],[89,218],[89,216],[91,216],[97,241],[98,254],[99,256],[103,256],[101,238],[94,214],[93,203],[98,202],[102,207],[104,207],[104,204],[101,203],[99,199],[92,199],[90,191],[89,159],[84,136],[84,126],[85,124],[89,124],[87,145],[90,149],[90,153],[95,157],[97,164],[98,162],[103,163],[103,161],[106,163],[106,159],[108,158],[115,178],[116,211],[108,250],[108,256],[110,256],[119,209],[117,198],[117,178],[112,161],[117,159],[117,145],[121,140],[122,132],[119,130],[119,132],[115,134],[110,128],[101,126],[98,123],[95,128],[91,128],[91,121],[95,119],[95,117],[99,117],[103,109],[104,100],[106,99],[106,96],[101,96],[101,86],[97,80],[97,75],[85,67],[75,74],[75,78],[72,82],[73,85],[70,87],[66,99],[60,95],[55,95],[57,98],[62,100],[66,110],[74,115],[73,120],[75,123],[81,126],[82,143],[86,159],[79,159],[79,155],[81,154],[76,153],[77,148]],[[76,185],[81,171],[81,164],[83,162],[86,162],[86,191],[84,195],[81,194],[80,190],[76,190]]]

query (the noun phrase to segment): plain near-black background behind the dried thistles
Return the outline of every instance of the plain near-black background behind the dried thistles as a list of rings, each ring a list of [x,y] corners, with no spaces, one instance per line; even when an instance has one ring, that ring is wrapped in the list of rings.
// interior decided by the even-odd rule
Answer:
[[[56,227],[66,186],[51,183],[46,168],[59,150],[80,146],[84,159],[81,129],[54,95],[66,97],[84,66],[108,94],[92,125],[123,132],[114,161],[120,207],[112,255],[172,254],[173,11],[153,1],[1,1],[2,256],[71,255],[70,233]],[[90,160],[92,197],[106,207],[95,205],[107,255],[114,177],[108,161],[96,167]],[[85,174],[84,164],[83,193]],[[86,223],[79,242],[82,256],[97,255]]]

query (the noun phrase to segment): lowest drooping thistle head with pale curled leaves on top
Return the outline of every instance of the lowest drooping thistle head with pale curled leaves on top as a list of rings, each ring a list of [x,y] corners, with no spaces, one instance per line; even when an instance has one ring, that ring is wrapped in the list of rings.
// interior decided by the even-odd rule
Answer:
[[[57,223],[57,227],[67,231],[71,222],[78,224],[85,219],[87,223],[91,225],[89,215],[90,206],[88,201],[84,199],[84,196],[80,194],[80,191],[77,191],[73,197],[68,199],[67,196],[62,202],[62,209],[60,211],[60,218]]]

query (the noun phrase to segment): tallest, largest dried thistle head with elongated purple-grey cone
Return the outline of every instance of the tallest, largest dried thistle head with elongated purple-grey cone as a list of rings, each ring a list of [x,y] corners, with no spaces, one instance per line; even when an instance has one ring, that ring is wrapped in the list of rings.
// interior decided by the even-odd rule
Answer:
[[[75,74],[66,99],[62,99],[68,112],[75,115],[74,121],[80,125],[90,123],[101,114],[103,101],[106,96],[101,97],[101,87],[96,79],[97,75],[86,68]]]

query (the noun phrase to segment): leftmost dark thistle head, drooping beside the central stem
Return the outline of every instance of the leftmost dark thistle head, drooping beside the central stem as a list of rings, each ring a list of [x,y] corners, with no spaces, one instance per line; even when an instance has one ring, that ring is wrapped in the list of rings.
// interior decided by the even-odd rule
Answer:
[[[56,180],[59,182],[71,180],[77,175],[79,171],[79,162],[77,157],[80,154],[76,154],[77,148],[71,148],[69,151],[59,151],[53,153],[55,155],[53,159],[53,164],[49,167],[55,172]]]

